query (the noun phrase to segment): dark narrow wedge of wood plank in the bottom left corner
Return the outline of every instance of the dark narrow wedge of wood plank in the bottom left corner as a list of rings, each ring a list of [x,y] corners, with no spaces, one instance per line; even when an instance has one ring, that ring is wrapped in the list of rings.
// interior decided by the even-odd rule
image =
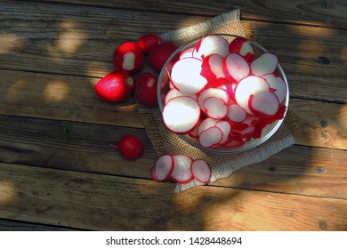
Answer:
[[[74,229],[0,219],[0,231],[72,231]]]

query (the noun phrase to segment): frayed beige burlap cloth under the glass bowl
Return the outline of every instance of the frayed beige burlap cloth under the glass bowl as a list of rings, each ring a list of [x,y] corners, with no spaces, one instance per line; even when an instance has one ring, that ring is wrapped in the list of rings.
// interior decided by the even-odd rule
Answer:
[[[240,21],[239,16],[239,10],[226,12],[198,25],[167,32],[162,37],[177,45],[185,44],[194,38],[208,34],[231,34],[253,38],[250,28],[246,27],[246,24]],[[148,64],[144,69],[155,72]],[[231,173],[239,168],[261,162],[278,153],[281,149],[285,149],[295,143],[291,127],[287,121],[287,115],[285,121],[278,128],[278,131],[259,147],[238,154],[215,154],[197,149],[188,142],[183,141],[178,135],[169,132],[163,123],[159,108],[144,108],[139,105],[138,112],[149,140],[157,152],[157,156],[163,154],[183,154],[190,156],[192,159],[205,159],[212,167],[210,183],[222,178],[228,178]],[[193,180],[187,184],[176,184],[173,191],[180,193],[196,185],[202,185],[202,183]]]

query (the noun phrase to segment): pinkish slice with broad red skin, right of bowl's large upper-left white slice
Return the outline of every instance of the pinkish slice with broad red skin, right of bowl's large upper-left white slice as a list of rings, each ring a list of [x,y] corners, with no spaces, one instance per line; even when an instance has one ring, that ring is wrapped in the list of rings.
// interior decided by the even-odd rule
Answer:
[[[228,82],[222,71],[223,58],[213,53],[208,55],[202,63],[201,75],[206,77],[211,87],[219,87]]]

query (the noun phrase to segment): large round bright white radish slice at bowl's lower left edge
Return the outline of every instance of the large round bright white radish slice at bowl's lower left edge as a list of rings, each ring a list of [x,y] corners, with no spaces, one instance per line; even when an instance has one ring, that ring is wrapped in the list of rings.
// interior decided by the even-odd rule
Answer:
[[[169,100],[163,109],[163,120],[173,133],[189,133],[198,124],[200,107],[188,96]]]

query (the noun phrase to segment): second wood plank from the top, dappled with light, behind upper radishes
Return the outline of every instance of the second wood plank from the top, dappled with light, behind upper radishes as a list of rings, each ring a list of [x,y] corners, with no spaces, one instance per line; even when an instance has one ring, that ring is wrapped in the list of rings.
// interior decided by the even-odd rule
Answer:
[[[0,7],[0,68],[77,76],[105,75],[112,69],[111,54],[117,45],[143,33],[160,34],[209,18],[74,5],[66,10],[60,4],[54,8],[37,3],[23,7],[10,2]],[[320,69],[347,66],[345,30],[259,21],[248,24],[256,40],[278,54],[282,62]],[[321,65],[322,56],[330,63]]]

